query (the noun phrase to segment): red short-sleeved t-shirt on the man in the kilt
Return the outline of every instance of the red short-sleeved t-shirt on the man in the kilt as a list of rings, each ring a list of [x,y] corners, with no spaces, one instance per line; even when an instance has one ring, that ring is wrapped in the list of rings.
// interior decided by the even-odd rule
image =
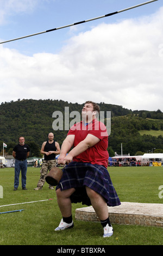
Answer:
[[[107,168],[109,158],[107,151],[108,132],[106,130],[106,126],[102,122],[95,119],[85,126],[83,121],[81,121],[80,123],[74,124],[70,131],[68,131],[67,135],[75,135],[73,147],[76,147],[76,145],[83,141],[88,134],[96,136],[101,141],[93,145],[91,148],[88,148],[78,156],[73,157],[73,161],[90,162],[92,164],[103,165]]]

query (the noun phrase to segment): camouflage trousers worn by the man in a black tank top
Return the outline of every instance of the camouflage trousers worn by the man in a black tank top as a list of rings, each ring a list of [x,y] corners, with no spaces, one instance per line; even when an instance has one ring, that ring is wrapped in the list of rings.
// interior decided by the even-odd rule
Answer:
[[[45,184],[45,177],[48,173],[48,170],[51,170],[52,167],[55,167],[55,166],[56,166],[56,160],[48,160],[48,161],[43,160],[42,167],[40,170],[40,174],[41,174],[40,180],[37,183],[37,187],[40,187],[40,188],[43,187],[43,185]],[[52,187],[52,186],[49,185],[49,187]]]

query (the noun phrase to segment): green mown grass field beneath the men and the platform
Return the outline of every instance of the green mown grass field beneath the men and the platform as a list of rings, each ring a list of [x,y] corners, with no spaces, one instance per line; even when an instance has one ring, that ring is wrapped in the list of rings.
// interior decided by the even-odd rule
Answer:
[[[159,198],[159,186],[163,185],[163,167],[110,167],[112,182],[121,202],[163,203]],[[20,186],[14,188],[14,168],[0,169],[0,185],[3,198],[0,206],[23,202],[29,204],[0,207],[0,212],[21,210],[0,214],[0,245],[162,245],[162,228],[141,227],[136,225],[113,224],[114,235],[103,238],[100,223],[75,220],[76,208],[85,205],[73,204],[74,228],[56,232],[61,220],[55,190],[48,184],[40,191],[34,191],[40,177],[39,168],[28,168],[27,191]]]

